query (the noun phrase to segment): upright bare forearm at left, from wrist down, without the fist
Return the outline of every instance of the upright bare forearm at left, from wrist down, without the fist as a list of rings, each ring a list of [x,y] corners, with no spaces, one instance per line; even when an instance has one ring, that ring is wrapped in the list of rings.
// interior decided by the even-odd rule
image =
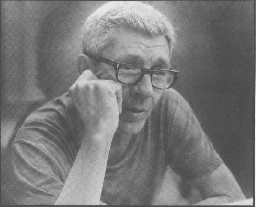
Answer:
[[[85,137],[55,205],[99,205],[112,134]]]

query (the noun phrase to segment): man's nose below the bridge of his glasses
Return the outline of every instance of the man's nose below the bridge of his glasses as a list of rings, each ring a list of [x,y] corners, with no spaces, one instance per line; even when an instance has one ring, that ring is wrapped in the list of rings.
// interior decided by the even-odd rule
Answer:
[[[149,74],[145,74],[142,79],[134,85],[133,95],[141,95],[143,97],[150,97],[153,95],[153,86]]]

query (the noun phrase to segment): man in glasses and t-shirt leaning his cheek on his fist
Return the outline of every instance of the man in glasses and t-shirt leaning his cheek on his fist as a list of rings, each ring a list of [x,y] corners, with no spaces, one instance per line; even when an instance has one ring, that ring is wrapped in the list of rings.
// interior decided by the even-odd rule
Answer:
[[[81,76],[31,113],[9,145],[14,204],[218,205],[244,198],[171,88],[179,76],[169,69],[174,40],[167,18],[140,2],[110,2],[87,18]],[[185,203],[172,170],[201,201]],[[172,199],[159,196],[166,184]]]

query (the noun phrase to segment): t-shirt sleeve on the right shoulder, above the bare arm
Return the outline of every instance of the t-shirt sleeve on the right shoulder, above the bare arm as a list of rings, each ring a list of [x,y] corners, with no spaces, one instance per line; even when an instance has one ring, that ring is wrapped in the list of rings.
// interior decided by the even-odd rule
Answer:
[[[170,165],[184,179],[196,179],[223,162],[186,100],[178,95],[169,122]]]

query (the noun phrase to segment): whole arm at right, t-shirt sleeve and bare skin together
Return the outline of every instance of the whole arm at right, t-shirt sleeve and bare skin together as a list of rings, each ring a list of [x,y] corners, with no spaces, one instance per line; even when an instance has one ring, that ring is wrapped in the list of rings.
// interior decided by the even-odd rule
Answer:
[[[243,199],[237,181],[214,150],[188,102],[178,98],[175,109],[170,121],[175,126],[170,160],[173,170],[200,192],[203,201],[194,205],[218,205]]]

